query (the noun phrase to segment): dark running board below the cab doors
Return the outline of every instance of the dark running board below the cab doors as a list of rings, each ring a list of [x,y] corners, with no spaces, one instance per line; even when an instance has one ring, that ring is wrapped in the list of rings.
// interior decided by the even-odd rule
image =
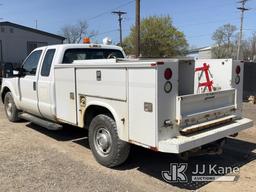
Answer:
[[[44,120],[44,119],[41,119],[39,117],[36,117],[34,115],[30,115],[28,113],[21,113],[19,114],[19,117],[21,119],[25,119],[27,121],[30,121],[32,123],[35,123],[41,127],[44,127],[48,130],[52,130],[52,131],[57,131],[57,130],[60,130],[63,128],[62,125],[60,124],[57,124],[57,123],[54,123],[54,122],[51,122],[51,121],[47,121],[47,120]]]

